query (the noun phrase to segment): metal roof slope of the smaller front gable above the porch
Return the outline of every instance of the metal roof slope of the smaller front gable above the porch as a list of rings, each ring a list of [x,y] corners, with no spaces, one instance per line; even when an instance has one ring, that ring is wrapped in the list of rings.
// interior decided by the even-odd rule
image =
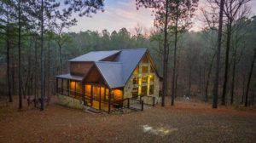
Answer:
[[[102,77],[108,83],[109,88],[124,87],[123,64],[119,62],[96,61],[96,66],[102,73]]]

